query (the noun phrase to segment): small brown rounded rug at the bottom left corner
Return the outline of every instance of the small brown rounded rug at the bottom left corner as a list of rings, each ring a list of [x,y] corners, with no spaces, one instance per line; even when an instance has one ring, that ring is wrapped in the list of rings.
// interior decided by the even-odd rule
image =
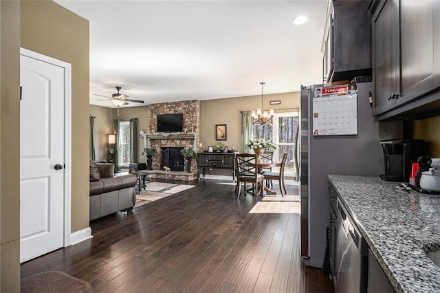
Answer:
[[[21,279],[21,292],[93,292],[90,283],[65,272],[41,272]]]

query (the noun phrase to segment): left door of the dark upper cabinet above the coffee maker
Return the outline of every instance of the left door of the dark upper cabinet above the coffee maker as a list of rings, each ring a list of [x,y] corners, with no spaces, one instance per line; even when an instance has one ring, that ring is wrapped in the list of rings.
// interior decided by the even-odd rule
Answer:
[[[399,1],[379,4],[373,15],[374,114],[395,107],[399,89]],[[394,94],[394,95],[393,95]]]

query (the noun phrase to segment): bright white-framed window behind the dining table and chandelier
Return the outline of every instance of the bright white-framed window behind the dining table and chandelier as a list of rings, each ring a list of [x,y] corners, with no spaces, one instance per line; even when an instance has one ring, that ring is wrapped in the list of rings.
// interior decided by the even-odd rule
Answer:
[[[284,153],[289,154],[287,155],[285,166],[285,175],[287,176],[296,175],[295,138],[298,124],[298,112],[276,113],[272,124],[254,124],[254,138],[272,140],[276,144],[276,151],[274,152],[275,162],[281,162]]]

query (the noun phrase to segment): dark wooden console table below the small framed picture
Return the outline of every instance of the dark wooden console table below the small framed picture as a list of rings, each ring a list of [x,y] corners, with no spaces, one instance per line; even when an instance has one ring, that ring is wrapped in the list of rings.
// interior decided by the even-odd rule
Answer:
[[[205,177],[205,169],[230,169],[232,171],[232,181],[235,180],[234,152],[228,153],[197,153],[197,168],[202,177]],[[201,171],[201,172],[200,172]]]

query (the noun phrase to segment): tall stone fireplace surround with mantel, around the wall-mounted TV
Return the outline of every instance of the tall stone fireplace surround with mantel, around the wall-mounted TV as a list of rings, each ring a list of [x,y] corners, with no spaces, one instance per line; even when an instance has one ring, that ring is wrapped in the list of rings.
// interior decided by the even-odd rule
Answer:
[[[166,149],[180,149],[181,148],[192,148],[194,144],[196,147],[199,145],[199,100],[185,100],[179,102],[163,102],[159,104],[151,104],[150,110],[150,122],[148,126],[148,147],[154,147],[156,153],[153,156],[153,170],[163,170],[163,151]],[[186,132],[177,133],[157,133],[157,115],[158,114],[173,114],[173,113],[183,113],[184,114],[184,129]],[[197,149],[196,149],[197,152]],[[177,165],[180,163],[177,162]],[[183,171],[183,158],[181,160],[180,166],[176,166],[179,170],[172,171]],[[168,166],[169,167],[169,166]],[[191,171],[197,172],[197,160],[192,158],[191,160]]]

